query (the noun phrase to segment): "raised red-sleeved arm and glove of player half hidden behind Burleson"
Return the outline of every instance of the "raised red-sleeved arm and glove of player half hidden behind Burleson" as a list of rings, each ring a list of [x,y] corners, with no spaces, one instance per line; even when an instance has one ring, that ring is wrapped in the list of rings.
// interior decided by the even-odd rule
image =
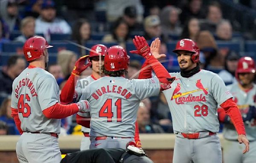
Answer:
[[[60,100],[61,104],[70,104],[73,101],[73,95],[75,93],[76,81],[78,77],[87,67],[92,65],[91,62],[85,65],[86,60],[89,58],[89,55],[80,57],[75,64],[75,67],[67,80],[67,83],[61,90]],[[89,59],[88,59],[89,61]]]

